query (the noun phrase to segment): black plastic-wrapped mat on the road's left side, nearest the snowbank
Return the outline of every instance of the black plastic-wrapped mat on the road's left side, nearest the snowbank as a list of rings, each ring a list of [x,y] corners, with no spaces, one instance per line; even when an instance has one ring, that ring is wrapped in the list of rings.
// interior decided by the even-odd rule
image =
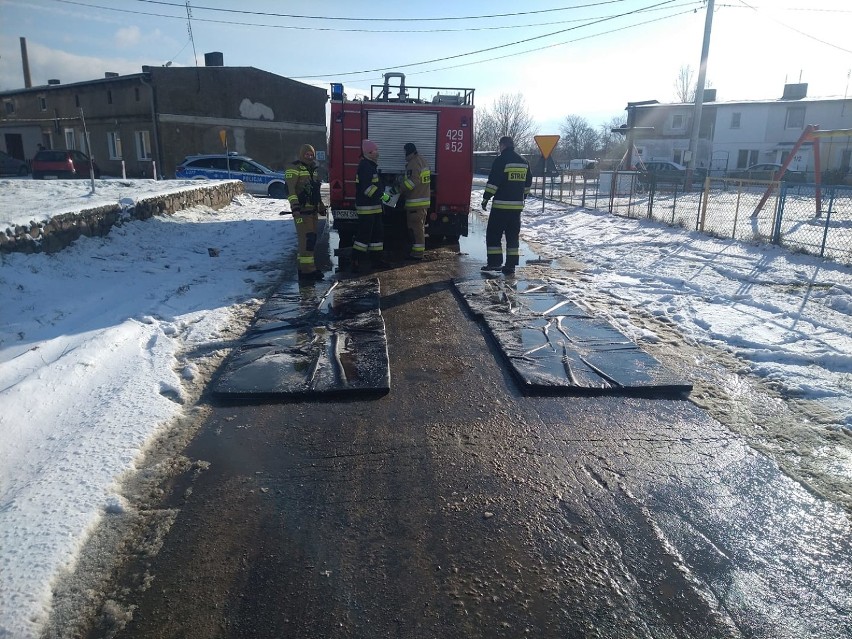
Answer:
[[[379,280],[285,284],[261,307],[213,385],[222,397],[384,394],[390,390]]]

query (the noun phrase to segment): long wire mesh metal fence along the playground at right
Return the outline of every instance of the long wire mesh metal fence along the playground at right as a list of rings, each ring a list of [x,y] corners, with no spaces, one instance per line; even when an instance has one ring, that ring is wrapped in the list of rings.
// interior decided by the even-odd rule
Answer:
[[[536,178],[535,195],[852,265],[852,186],[711,178],[686,190],[628,171]]]

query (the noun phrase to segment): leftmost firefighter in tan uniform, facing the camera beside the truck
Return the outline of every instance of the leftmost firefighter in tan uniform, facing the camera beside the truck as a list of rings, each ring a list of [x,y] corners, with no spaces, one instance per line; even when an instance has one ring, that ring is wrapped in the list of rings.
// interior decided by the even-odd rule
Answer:
[[[290,210],[299,240],[299,279],[321,280],[323,274],[314,263],[317,244],[317,214],[325,211],[320,197],[320,177],[317,173],[316,151],[310,144],[299,149],[299,159],[284,171],[287,181]]]

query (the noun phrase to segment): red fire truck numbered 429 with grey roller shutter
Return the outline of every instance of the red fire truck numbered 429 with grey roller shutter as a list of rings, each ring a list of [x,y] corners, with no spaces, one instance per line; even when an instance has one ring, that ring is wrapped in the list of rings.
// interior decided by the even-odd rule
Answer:
[[[413,142],[432,169],[426,220],[430,242],[457,241],[467,235],[473,181],[473,89],[407,86],[404,74],[386,73],[384,84],[371,87],[369,99],[350,100],[342,84],[331,85],[328,182],[332,228],[340,236],[341,249],[352,246],[357,225],[355,174],[364,139],[379,147],[382,187],[393,186],[397,176],[405,173],[403,146]],[[404,228],[403,202],[392,202],[393,207],[384,207],[386,228]],[[393,237],[386,234],[386,246]]]

